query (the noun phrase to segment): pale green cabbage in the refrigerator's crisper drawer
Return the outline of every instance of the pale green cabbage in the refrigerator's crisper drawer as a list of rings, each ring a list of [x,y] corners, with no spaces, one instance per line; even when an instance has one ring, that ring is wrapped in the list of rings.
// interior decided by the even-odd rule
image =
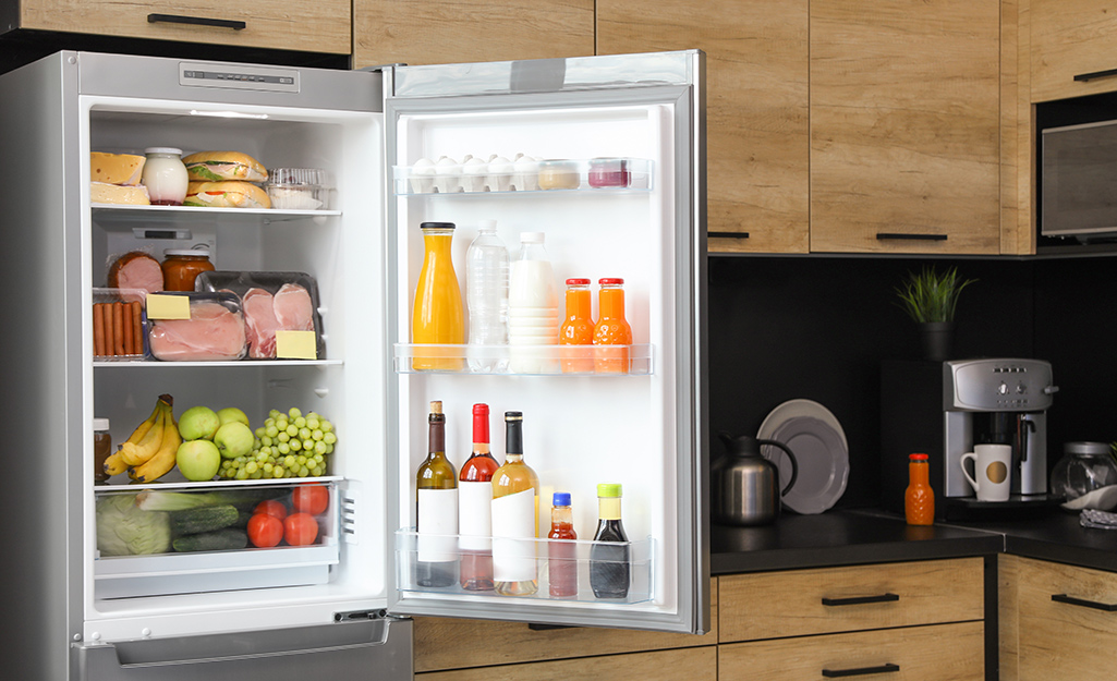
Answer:
[[[171,520],[164,511],[136,508],[135,495],[97,498],[97,550],[102,556],[139,556],[171,550]]]

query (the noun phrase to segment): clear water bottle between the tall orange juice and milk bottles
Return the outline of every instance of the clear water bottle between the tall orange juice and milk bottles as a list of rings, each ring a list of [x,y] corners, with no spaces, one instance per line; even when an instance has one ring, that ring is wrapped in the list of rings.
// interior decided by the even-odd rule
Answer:
[[[496,221],[485,220],[466,252],[466,303],[469,307],[470,345],[508,344],[508,249],[496,233]],[[504,371],[504,362],[489,348],[469,353],[469,370]]]

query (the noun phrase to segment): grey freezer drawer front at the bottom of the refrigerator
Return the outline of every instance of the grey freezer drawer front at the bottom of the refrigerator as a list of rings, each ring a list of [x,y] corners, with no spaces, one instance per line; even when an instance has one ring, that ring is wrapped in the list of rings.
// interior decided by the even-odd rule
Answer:
[[[365,620],[325,626],[78,645],[70,677],[82,681],[305,681],[411,679],[411,621]]]

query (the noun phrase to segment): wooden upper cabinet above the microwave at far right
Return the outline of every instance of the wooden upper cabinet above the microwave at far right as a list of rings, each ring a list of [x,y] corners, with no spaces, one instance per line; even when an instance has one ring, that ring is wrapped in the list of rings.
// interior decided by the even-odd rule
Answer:
[[[1117,6],[1110,0],[1021,0],[1029,7],[1031,100],[1117,90]]]

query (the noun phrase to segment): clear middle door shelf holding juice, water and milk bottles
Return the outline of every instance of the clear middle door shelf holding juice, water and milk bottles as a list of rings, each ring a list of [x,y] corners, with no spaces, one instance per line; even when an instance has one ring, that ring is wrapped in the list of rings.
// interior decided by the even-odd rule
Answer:
[[[623,371],[628,354],[628,371]],[[598,371],[598,366],[601,371]],[[649,376],[651,344],[634,345],[436,345],[397,343],[399,374],[508,376]]]

